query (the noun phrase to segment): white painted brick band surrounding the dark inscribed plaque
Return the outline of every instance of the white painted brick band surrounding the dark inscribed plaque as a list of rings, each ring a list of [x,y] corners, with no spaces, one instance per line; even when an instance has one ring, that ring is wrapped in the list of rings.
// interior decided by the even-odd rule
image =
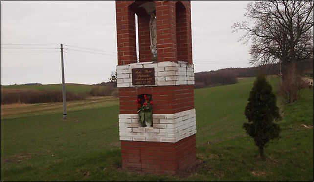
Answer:
[[[117,86],[118,87],[141,87],[143,85],[132,85],[132,69],[134,68],[154,68],[155,85],[194,85],[194,65],[185,61],[165,61],[160,63],[141,62],[129,65],[117,66]],[[150,85],[145,85],[150,86]]]

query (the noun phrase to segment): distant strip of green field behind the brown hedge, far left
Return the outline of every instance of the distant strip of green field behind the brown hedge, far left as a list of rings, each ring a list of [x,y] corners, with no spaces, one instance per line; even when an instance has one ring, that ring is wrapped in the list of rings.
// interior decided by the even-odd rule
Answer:
[[[90,92],[90,89],[93,87],[92,85],[85,84],[74,84],[67,83],[65,85],[66,90],[73,93],[86,93]],[[52,90],[52,91],[61,91],[61,84],[47,84],[47,85],[8,85],[1,86],[2,89],[31,89],[31,90]]]

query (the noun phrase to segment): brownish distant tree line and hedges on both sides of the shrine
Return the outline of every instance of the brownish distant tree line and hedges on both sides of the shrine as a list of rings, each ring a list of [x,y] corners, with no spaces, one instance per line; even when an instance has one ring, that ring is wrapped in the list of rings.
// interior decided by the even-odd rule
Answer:
[[[313,58],[297,64],[299,72],[303,76],[313,76]],[[225,68],[217,71],[195,73],[194,88],[211,87],[217,85],[227,85],[237,83],[239,77],[255,77],[263,71],[265,75],[279,75],[279,64],[269,64],[259,67],[247,68]],[[67,100],[82,100],[88,96],[118,96],[116,87],[116,74],[112,73],[109,82],[93,84],[87,93],[67,92]],[[41,85],[40,83],[26,83],[21,85]],[[1,104],[11,103],[42,103],[42,102],[61,102],[61,91],[35,91],[28,89],[1,89]]]

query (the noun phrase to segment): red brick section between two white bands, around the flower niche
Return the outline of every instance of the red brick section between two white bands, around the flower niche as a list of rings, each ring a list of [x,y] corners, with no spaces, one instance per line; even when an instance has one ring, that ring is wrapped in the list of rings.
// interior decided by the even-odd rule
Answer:
[[[193,85],[119,88],[120,114],[136,114],[137,95],[151,94],[153,113],[173,114],[194,108]]]

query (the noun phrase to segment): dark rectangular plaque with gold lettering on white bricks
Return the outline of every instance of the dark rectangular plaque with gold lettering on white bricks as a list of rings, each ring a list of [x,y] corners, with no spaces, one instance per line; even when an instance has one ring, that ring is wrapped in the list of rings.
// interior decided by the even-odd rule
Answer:
[[[132,69],[132,85],[155,85],[154,68]]]

